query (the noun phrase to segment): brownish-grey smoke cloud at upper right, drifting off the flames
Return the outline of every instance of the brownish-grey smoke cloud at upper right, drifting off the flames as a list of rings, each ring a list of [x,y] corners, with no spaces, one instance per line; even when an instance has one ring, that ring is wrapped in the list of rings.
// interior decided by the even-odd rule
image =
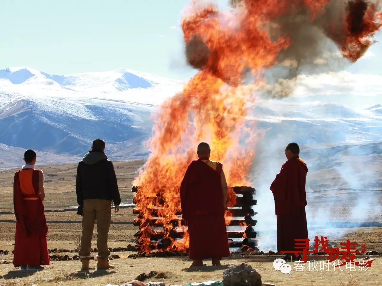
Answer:
[[[238,7],[243,2],[231,0],[231,5]],[[364,18],[368,8],[377,11],[379,6],[380,1],[331,0],[313,21],[311,11],[303,6],[293,14],[274,19],[267,27],[271,39],[288,37],[291,45],[278,55],[278,65],[266,71],[265,93],[270,97],[287,97],[295,90],[299,74],[340,71],[351,65],[372,42],[356,46],[346,41],[362,37],[372,29]]]

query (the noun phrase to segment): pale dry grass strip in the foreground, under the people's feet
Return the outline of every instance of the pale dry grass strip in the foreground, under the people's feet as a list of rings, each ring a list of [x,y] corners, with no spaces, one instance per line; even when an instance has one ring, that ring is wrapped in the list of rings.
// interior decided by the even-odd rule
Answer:
[[[116,266],[115,270],[107,270],[98,272],[91,270],[89,276],[78,271],[80,262],[52,262],[47,270],[26,274],[14,270],[13,266],[0,265],[0,273],[4,276],[0,278],[0,285],[16,286],[16,285],[105,285],[108,283],[120,285],[127,281],[133,280],[141,273],[149,273],[157,271],[161,273],[161,279],[151,278],[150,281],[165,281],[168,284],[184,285],[186,282],[201,282],[210,280],[222,280],[223,271],[229,265],[238,265],[240,263],[248,263],[255,268],[262,276],[263,282],[273,283],[277,286],[286,285],[380,285],[382,277],[382,258],[378,257],[372,263],[372,267],[366,271],[350,271],[349,269],[333,271],[303,271],[292,270],[291,274],[283,274],[275,271],[272,262],[275,257],[232,257],[222,261],[222,267],[207,266],[204,269],[190,271],[188,265],[190,261],[187,258],[125,258],[131,252],[120,253],[121,259],[112,260]],[[94,261],[91,267],[95,267]],[[208,263],[208,262],[207,262]],[[295,267],[290,263],[292,268]],[[358,269],[357,269],[358,270]],[[19,277],[19,278],[15,278]],[[149,281],[147,280],[147,281]]]

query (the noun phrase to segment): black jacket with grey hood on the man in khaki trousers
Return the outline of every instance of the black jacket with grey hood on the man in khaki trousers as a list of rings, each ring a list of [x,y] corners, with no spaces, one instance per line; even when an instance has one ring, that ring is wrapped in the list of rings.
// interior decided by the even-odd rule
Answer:
[[[76,193],[80,206],[86,199],[112,200],[114,205],[121,203],[113,163],[104,152],[90,151],[78,163]]]

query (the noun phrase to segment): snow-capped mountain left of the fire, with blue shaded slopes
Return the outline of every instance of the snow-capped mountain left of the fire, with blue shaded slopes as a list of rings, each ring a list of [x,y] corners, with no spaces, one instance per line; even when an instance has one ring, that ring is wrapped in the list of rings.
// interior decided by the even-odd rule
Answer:
[[[144,157],[151,113],[180,89],[180,82],[128,69],[69,76],[1,69],[0,155],[32,148],[72,162],[100,137],[114,159]]]

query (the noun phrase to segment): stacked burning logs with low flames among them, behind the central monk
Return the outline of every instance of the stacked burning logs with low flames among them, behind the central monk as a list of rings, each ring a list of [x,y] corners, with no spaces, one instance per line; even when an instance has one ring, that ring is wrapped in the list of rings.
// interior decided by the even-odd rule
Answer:
[[[139,194],[139,186],[133,186],[132,192]],[[255,189],[253,187],[230,187],[231,198],[227,202],[228,210],[225,212],[225,220],[227,225],[228,244],[231,252],[251,251],[257,252],[257,232],[254,226],[257,220],[254,216],[257,212],[252,208],[257,204],[254,199]],[[139,196],[134,196],[133,203],[139,202]],[[135,248],[139,252],[151,251],[172,251],[186,252],[188,250],[188,234],[185,221],[181,218],[181,209],[170,211],[173,213],[172,218],[165,218],[163,210],[166,201],[160,194],[151,200],[152,205],[149,210],[142,210],[137,207],[133,209],[133,213],[138,215],[134,220],[134,225],[139,226],[139,231],[134,235],[138,238],[138,244]],[[141,205],[141,204],[139,204]],[[149,215],[147,215],[149,213]],[[211,226],[213,228],[214,226]],[[208,236],[208,233],[204,234]],[[175,243],[174,243],[175,242]],[[186,247],[173,247],[176,242]]]

